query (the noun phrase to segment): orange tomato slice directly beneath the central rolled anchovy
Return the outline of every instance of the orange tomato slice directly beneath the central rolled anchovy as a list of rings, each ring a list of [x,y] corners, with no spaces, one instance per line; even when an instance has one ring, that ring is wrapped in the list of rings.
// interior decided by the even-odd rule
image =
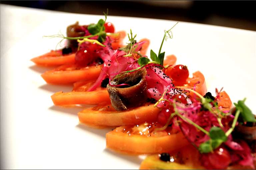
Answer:
[[[78,113],[79,121],[84,124],[99,126],[134,125],[144,122],[154,122],[160,111],[154,105],[141,106],[126,111],[106,110],[106,108],[110,107],[111,104],[85,109]]]

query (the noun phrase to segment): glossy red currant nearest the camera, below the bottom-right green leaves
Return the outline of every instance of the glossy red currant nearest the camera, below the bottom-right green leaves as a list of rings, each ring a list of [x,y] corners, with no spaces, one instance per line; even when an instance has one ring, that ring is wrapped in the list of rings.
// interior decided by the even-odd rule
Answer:
[[[226,169],[231,163],[231,156],[224,147],[215,149],[213,153],[209,153],[207,156],[209,161],[205,162],[207,169]]]

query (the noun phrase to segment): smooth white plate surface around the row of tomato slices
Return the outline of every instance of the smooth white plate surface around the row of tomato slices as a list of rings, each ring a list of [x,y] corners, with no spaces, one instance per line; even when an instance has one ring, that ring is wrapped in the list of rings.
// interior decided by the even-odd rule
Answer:
[[[1,169],[138,169],[143,156],[121,155],[105,148],[110,129],[79,124],[84,106],[53,106],[50,95],[71,91],[72,86],[47,85],[40,77],[49,68],[30,59],[54,49],[57,39],[42,38],[67,25],[97,22],[103,16],[71,14],[0,5],[1,9]],[[163,30],[176,21],[113,17],[116,30],[132,28],[138,39],[151,40],[157,51]],[[127,39],[126,39],[127,40]],[[190,74],[200,70],[208,91],[229,94],[232,102],[247,98],[256,113],[256,32],[179,22],[173,39],[164,43],[166,54],[177,64],[188,65]]]

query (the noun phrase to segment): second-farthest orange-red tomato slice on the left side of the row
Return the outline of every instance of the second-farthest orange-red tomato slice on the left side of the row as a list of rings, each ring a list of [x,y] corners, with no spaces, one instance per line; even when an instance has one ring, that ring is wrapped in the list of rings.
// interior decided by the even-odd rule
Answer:
[[[77,64],[61,65],[53,70],[46,71],[41,76],[50,84],[67,84],[80,80],[97,79],[101,66],[81,67]]]

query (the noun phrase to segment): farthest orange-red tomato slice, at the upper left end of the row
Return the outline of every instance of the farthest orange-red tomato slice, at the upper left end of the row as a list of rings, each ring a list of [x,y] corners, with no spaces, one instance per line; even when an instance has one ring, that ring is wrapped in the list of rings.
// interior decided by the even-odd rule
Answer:
[[[75,63],[75,53],[62,55],[61,50],[51,50],[51,52],[32,58],[31,61],[33,61],[35,64],[43,66],[72,64]]]

